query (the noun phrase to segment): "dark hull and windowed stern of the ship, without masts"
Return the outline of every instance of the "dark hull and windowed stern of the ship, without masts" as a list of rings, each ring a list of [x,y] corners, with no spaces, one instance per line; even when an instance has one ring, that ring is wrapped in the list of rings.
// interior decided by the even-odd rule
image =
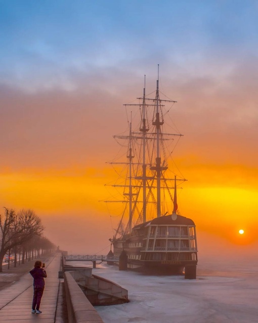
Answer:
[[[197,242],[191,219],[173,214],[156,218],[135,226],[131,234],[111,239],[111,242],[114,257],[126,253],[128,269],[196,275]]]

